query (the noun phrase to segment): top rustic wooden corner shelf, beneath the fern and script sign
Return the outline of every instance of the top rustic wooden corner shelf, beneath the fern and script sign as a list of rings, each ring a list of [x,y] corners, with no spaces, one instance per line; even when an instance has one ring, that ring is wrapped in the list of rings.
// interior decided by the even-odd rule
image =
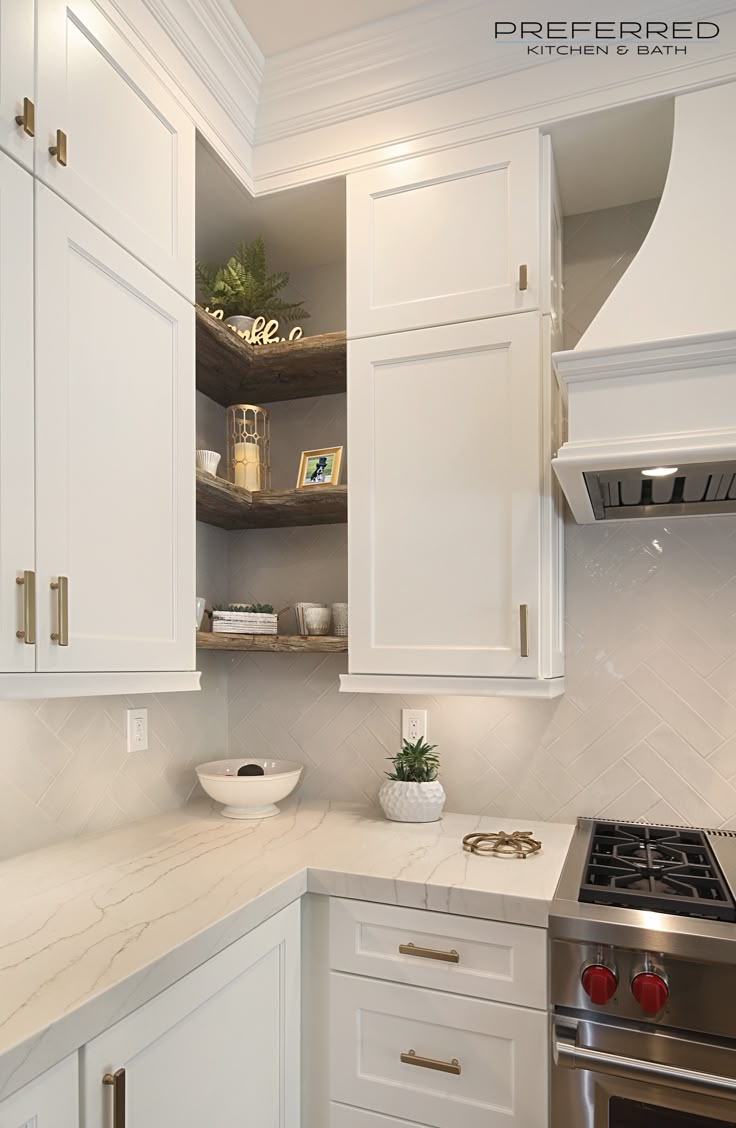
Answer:
[[[344,333],[251,345],[196,307],[196,387],[224,407],[344,391],[347,358]]]

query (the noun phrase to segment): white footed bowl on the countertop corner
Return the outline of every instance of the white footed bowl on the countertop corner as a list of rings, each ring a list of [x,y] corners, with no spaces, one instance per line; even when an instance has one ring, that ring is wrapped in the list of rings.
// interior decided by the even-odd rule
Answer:
[[[239,776],[244,764],[257,764],[262,776]],[[295,760],[259,760],[243,756],[237,760],[212,760],[196,769],[202,787],[211,799],[225,803],[226,819],[269,819],[279,813],[278,800],[290,795],[299,782],[301,765]]]

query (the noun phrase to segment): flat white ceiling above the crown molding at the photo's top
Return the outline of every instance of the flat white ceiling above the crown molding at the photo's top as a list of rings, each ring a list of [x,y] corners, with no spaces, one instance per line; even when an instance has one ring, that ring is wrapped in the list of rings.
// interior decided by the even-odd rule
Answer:
[[[418,8],[427,0],[233,0],[264,55],[300,47],[374,19]]]

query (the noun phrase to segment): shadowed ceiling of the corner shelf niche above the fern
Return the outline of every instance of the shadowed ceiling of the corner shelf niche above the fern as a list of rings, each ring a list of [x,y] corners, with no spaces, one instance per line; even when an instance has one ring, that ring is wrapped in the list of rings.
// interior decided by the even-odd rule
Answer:
[[[344,179],[254,199],[198,139],[196,257],[225,262],[240,239],[256,235],[264,238],[273,270],[344,262]]]

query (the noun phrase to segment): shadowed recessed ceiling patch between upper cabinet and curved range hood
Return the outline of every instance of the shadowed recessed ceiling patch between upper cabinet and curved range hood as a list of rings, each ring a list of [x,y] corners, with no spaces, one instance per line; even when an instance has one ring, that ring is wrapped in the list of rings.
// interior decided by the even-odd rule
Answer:
[[[642,102],[550,129],[562,212],[652,200],[667,178],[674,102]]]

